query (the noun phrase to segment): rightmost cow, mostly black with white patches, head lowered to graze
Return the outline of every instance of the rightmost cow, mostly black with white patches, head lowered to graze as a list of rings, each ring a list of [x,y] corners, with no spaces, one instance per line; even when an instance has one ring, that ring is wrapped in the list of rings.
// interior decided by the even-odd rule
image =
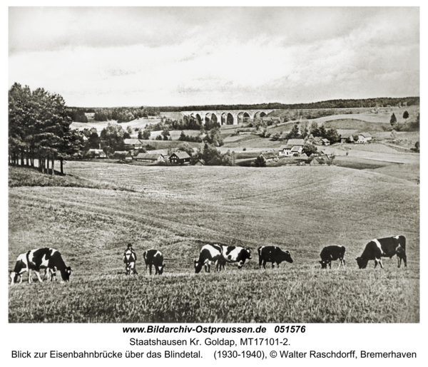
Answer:
[[[404,267],[407,267],[406,237],[372,239],[366,244],[361,256],[357,257],[356,260],[360,269],[365,269],[369,260],[374,260],[374,267],[377,267],[377,263],[379,263],[380,267],[383,268],[382,257],[391,259],[395,254],[397,254],[398,267],[401,266],[402,260],[404,260]]]

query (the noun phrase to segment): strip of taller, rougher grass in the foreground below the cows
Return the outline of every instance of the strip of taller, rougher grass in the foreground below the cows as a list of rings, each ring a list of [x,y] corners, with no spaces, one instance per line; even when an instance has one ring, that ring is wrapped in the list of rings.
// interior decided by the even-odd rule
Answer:
[[[9,322],[419,322],[418,278],[414,269],[394,267],[282,265],[21,284],[9,289]]]

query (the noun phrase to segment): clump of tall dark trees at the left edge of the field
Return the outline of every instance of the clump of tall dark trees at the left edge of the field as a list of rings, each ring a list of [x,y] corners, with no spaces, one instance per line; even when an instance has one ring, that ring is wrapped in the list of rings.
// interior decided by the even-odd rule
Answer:
[[[70,129],[71,118],[61,95],[14,83],[9,90],[9,163],[34,167],[54,175],[54,162],[83,148],[83,135]]]

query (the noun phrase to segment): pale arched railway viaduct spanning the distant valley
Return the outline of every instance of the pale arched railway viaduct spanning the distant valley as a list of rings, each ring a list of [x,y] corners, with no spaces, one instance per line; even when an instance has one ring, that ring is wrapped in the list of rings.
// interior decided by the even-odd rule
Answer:
[[[180,111],[185,116],[205,120],[214,120],[220,125],[238,125],[244,118],[262,118],[273,110],[206,110],[206,111]]]

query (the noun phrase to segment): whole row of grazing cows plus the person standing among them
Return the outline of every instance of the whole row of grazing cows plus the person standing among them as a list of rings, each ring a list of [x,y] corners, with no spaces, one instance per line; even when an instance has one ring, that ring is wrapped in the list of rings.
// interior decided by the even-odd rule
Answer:
[[[404,267],[407,267],[406,256],[406,238],[404,236],[387,237],[380,239],[372,239],[360,257],[357,257],[357,264],[360,269],[365,269],[370,260],[374,260],[374,267],[377,264],[383,268],[382,257],[392,258],[397,255],[398,267],[404,261]],[[270,262],[272,268],[281,262],[292,263],[291,254],[289,251],[282,251],[276,246],[261,246],[258,248],[259,266],[266,269],[266,263]],[[332,261],[340,260],[341,265],[345,267],[345,247],[343,246],[327,246],[320,253],[321,267],[326,269],[327,265],[332,267]],[[155,268],[155,274],[161,275],[165,268],[163,262],[163,254],[156,249],[149,249],[143,253],[143,259],[146,263],[148,274],[152,273],[152,267]],[[243,267],[245,260],[251,259],[250,249],[239,246],[227,246],[223,244],[205,244],[200,250],[199,258],[194,260],[195,272],[198,274],[202,267],[205,267],[205,272],[210,272],[211,263],[215,264],[215,270],[220,271],[225,269],[226,263],[238,263],[238,269]],[[131,244],[123,254],[123,262],[125,263],[126,274],[137,274],[136,271],[137,255]],[[71,275],[71,267],[67,267],[63,261],[61,254],[56,249],[33,249],[24,254],[20,254],[16,259],[14,270],[10,272],[11,284],[16,283],[18,277],[22,282],[22,274],[29,272],[29,283],[31,283],[31,271],[36,273],[39,281],[43,281],[39,274],[41,269],[45,269],[44,278],[48,280],[56,280],[56,272],[61,273],[62,281],[68,281]]]

